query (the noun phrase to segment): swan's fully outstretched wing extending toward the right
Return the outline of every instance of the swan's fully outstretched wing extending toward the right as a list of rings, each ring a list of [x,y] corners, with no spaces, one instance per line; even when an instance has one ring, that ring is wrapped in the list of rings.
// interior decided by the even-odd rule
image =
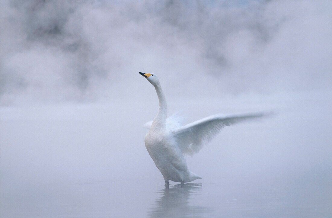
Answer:
[[[209,142],[222,128],[241,121],[264,116],[265,113],[216,114],[173,130],[174,138],[183,154],[193,156],[204,143]]]

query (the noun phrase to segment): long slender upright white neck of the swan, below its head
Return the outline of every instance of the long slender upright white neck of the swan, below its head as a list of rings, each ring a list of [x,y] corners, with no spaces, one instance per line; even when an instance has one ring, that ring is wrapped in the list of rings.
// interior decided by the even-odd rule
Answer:
[[[159,99],[159,110],[157,116],[154,118],[151,129],[166,129],[166,118],[167,118],[167,103],[163,90],[161,89],[160,83],[154,85],[156,88],[157,96]]]

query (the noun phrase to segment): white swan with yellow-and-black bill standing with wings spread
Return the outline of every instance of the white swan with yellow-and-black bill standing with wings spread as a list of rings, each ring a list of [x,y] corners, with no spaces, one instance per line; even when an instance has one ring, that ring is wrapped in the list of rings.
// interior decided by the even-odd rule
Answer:
[[[262,117],[264,113],[216,114],[193,123],[181,126],[179,118],[172,116],[167,119],[166,98],[155,74],[142,73],[156,89],[159,99],[157,116],[145,126],[150,127],[145,135],[144,143],[147,152],[165,179],[174,182],[191,182],[202,177],[188,169],[184,155],[193,156],[203,145],[209,142],[220,130],[240,121]]]

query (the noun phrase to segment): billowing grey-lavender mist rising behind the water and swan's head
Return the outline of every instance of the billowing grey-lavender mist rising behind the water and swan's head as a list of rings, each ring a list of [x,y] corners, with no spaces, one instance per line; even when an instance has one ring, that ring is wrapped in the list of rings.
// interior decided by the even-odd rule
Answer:
[[[186,96],[197,85],[220,96],[331,80],[328,1],[1,4],[2,105],[131,97],[137,71]]]

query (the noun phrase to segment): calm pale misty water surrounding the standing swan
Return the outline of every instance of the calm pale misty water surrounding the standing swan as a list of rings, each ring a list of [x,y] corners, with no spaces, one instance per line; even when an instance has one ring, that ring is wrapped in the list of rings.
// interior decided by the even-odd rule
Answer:
[[[151,99],[151,109],[139,101],[2,107],[1,215],[329,216],[331,135],[325,128],[330,121],[322,117],[329,103],[322,96],[234,97],[223,99],[223,109],[193,100],[195,111],[188,100],[172,99],[171,107],[193,116],[189,121],[243,107],[279,105],[279,112],[224,128],[199,154],[186,158],[202,179],[169,187],[143,141],[142,125],[153,118],[157,99]]]

